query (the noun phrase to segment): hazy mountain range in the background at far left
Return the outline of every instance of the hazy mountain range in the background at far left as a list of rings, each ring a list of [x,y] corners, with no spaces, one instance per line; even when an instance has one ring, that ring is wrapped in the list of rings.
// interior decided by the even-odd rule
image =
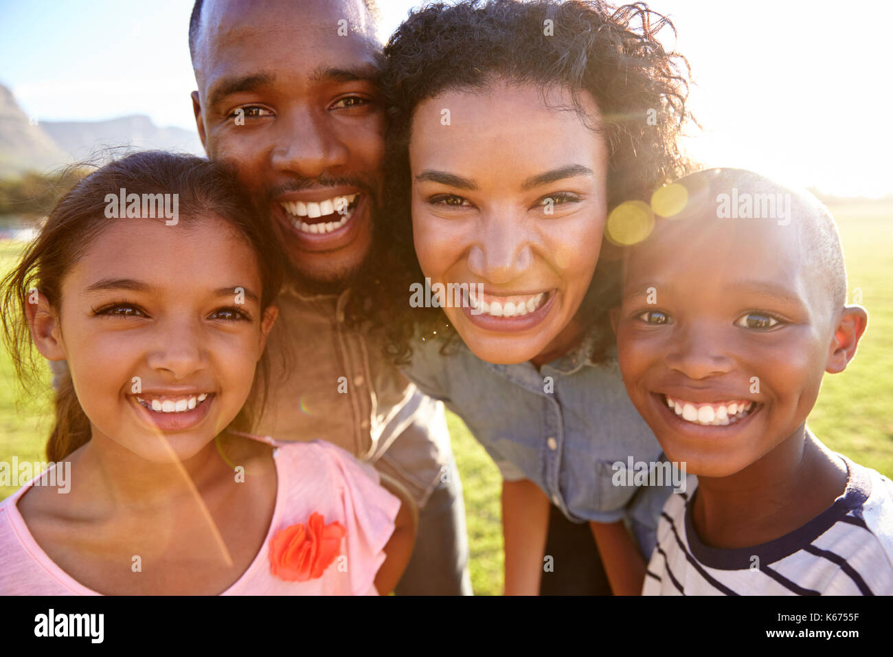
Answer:
[[[0,85],[0,178],[71,162],[97,164],[129,150],[159,148],[204,156],[196,131],[156,126],[145,115],[108,121],[29,122],[13,92]]]

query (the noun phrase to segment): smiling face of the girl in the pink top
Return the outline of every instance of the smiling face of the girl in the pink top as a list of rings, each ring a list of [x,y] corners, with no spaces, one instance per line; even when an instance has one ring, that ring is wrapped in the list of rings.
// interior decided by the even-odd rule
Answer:
[[[53,333],[94,439],[154,462],[201,451],[251,389],[276,316],[260,296],[254,252],[216,217],[104,228],[63,279]]]

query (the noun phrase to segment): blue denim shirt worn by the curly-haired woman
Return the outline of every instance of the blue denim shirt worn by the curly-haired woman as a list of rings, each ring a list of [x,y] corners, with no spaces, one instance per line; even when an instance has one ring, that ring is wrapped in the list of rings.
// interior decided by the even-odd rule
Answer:
[[[597,335],[540,367],[496,365],[456,339],[413,341],[406,375],[463,418],[507,481],[530,479],[576,522],[630,521],[642,552],[655,545],[657,518],[671,485],[614,485],[613,464],[665,460],[627,395],[616,350],[589,361]]]

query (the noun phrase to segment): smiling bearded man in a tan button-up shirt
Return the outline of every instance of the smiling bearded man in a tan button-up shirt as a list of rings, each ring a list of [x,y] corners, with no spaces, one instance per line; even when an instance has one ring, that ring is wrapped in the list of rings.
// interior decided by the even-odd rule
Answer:
[[[371,254],[384,239],[373,230],[385,146],[375,16],[372,0],[198,0],[196,126],[288,255],[260,433],[335,442],[403,484],[420,522],[396,593],[471,594],[443,407],[383,357],[380,330],[352,321],[375,303]]]

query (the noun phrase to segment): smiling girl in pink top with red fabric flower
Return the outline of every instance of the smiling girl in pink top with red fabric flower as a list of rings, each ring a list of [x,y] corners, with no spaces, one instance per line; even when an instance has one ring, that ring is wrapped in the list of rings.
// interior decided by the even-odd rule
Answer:
[[[413,520],[371,468],[327,442],[240,431],[281,274],[236,189],[220,164],[128,156],[68,192],[6,276],[20,377],[37,373],[32,341],[68,372],[54,465],[0,505],[0,594],[396,584]],[[66,494],[46,485],[53,467],[70,468]]]

